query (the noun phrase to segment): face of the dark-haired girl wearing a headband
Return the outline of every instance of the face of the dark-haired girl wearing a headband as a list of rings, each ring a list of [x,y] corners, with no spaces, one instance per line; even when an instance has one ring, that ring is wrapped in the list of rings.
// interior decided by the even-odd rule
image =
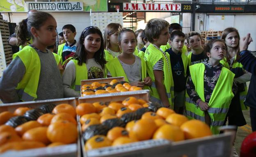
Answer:
[[[87,53],[94,54],[101,47],[101,36],[97,33],[89,34],[85,37],[83,44]]]

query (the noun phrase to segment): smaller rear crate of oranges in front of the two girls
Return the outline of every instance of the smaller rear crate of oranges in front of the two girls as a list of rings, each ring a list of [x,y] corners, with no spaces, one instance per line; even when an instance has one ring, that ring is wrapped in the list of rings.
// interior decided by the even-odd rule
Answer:
[[[102,79],[81,80],[81,96],[140,91],[142,88],[131,86],[124,77],[109,77]]]

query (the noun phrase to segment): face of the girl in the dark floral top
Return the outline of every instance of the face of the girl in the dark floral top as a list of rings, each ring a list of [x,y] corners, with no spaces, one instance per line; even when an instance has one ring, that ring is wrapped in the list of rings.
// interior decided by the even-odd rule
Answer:
[[[209,60],[222,60],[226,54],[226,46],[223,42],[213,43],[212,49],[210,52],[207,52],[206,55],[209,57]]]

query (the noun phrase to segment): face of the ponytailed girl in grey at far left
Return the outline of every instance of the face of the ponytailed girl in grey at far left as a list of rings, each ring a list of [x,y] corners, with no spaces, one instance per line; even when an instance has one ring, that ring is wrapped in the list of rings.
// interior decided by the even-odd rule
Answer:
[[[51,46],[55,44],[57,33],[57,22],[54,18],[48,18],[46,22],[38,30],[35,30],[34,38],[37,39],[41,44],[45,46]]]

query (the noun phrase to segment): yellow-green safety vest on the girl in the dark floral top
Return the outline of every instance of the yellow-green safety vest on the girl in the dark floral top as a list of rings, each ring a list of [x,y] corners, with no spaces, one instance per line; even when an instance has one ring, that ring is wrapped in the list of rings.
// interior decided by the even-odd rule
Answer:
[[[203,63],[194,64],[189,67],[192,82],[195,86],[195,90],[199,95],[200,99],[205,102],[204,99],[204,71],[205,65]],[[229,111],[229,105],[232,98],[234,97],[232,92],[233,79],[235,74],[233,74],[229,69],[222,67],[222,71],[219,75],[217,84],[213,90],[208,103],[209,109],[208,113],[211,118],[210,129],[213,134],[218,134],[218,127],[224,124],[226,113]],[[198,119],[205,122],[204,111],[201,111],[196,103],[190,99],[186,92],[186,116],[189,119]]]

